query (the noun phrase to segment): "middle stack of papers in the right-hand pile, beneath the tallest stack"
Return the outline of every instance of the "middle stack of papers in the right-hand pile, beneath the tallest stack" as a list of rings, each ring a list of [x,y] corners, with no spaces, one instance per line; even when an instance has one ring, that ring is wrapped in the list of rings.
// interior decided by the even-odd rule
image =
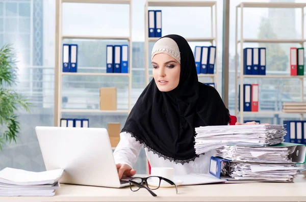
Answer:
[[[231,161],[253,163],[293,163],[290,154],[295,147],[224,146],[216,149],[216,155]]]

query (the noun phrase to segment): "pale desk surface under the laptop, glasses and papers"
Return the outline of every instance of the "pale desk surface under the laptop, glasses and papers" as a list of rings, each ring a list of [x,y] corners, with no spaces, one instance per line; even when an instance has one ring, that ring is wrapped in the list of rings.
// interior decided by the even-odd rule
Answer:
[[[130,187],[105,188],[62,184],[51,197],[0,197],[2,202],[52,201],[306,201],[306,177],[299,175],[294,183],[242,183],[179,186],[132,192]]]

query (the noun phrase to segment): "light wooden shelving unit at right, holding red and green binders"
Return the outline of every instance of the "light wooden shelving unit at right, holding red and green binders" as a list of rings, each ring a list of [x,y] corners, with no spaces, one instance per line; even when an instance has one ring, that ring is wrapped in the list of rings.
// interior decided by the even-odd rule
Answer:
[[[243,72],[243,43],[298,43],[303,47],[304,42],[304,7],[306,3],[258,3],[258,2],[242,2],[236,6],[236,60],[235,60],[235,113],[240,115],[240,122],[243,123],[244,114],[282,114],[282,111],[243,111],[243,83],[245,78],[292,78],[301,81],[301,101],[304,101],[304,78],[306,76],[291,76],[291,75],[244,75]],[[238,39],[238,9],[240,8],[240,40]],[[245,39],[243,38],[243,8],[300,8],[302,11],[301,17],[301,39]],[[238,44],[240,44],[240,74],[238,74]],[[266,58],[266,60],[268,60]],[[238,81],[240,81],[240,103],[238,103]],[[238,111],[238,104],[240,104],[240,111]],[[300,114],[301,120],[303,114]]]

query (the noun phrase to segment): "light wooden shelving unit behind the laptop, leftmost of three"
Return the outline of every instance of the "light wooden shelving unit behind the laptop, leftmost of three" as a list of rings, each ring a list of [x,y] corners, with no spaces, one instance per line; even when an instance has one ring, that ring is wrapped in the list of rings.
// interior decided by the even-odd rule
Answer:
[[[62,6],[63,3],[84,4],[124,4],[130,6],[129,36],[78,36],[63,35],[62,33]],[[90,39],[90,40],[127,40],[129,42],[129,73],[81,73],[62,72],[62,45],[64,39]],[[56,53],[55,53],[55,106],[54,125],[60,126],[62,112],[72,113],[129,113],[131,111],[132,91],[132,0],[56,0]],[[127,76],[129,77],[129,109],[128,110],[92,110],[92,109],[62,109],[62,77],[63,76]]]

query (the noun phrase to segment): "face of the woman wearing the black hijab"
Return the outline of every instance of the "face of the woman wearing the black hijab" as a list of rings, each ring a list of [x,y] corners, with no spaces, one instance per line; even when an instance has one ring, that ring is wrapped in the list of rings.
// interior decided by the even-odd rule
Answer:
[[[181,64],[166,53],[152,58],[153,77],[157,88],[162,92],[172,91],[179,85]]]

